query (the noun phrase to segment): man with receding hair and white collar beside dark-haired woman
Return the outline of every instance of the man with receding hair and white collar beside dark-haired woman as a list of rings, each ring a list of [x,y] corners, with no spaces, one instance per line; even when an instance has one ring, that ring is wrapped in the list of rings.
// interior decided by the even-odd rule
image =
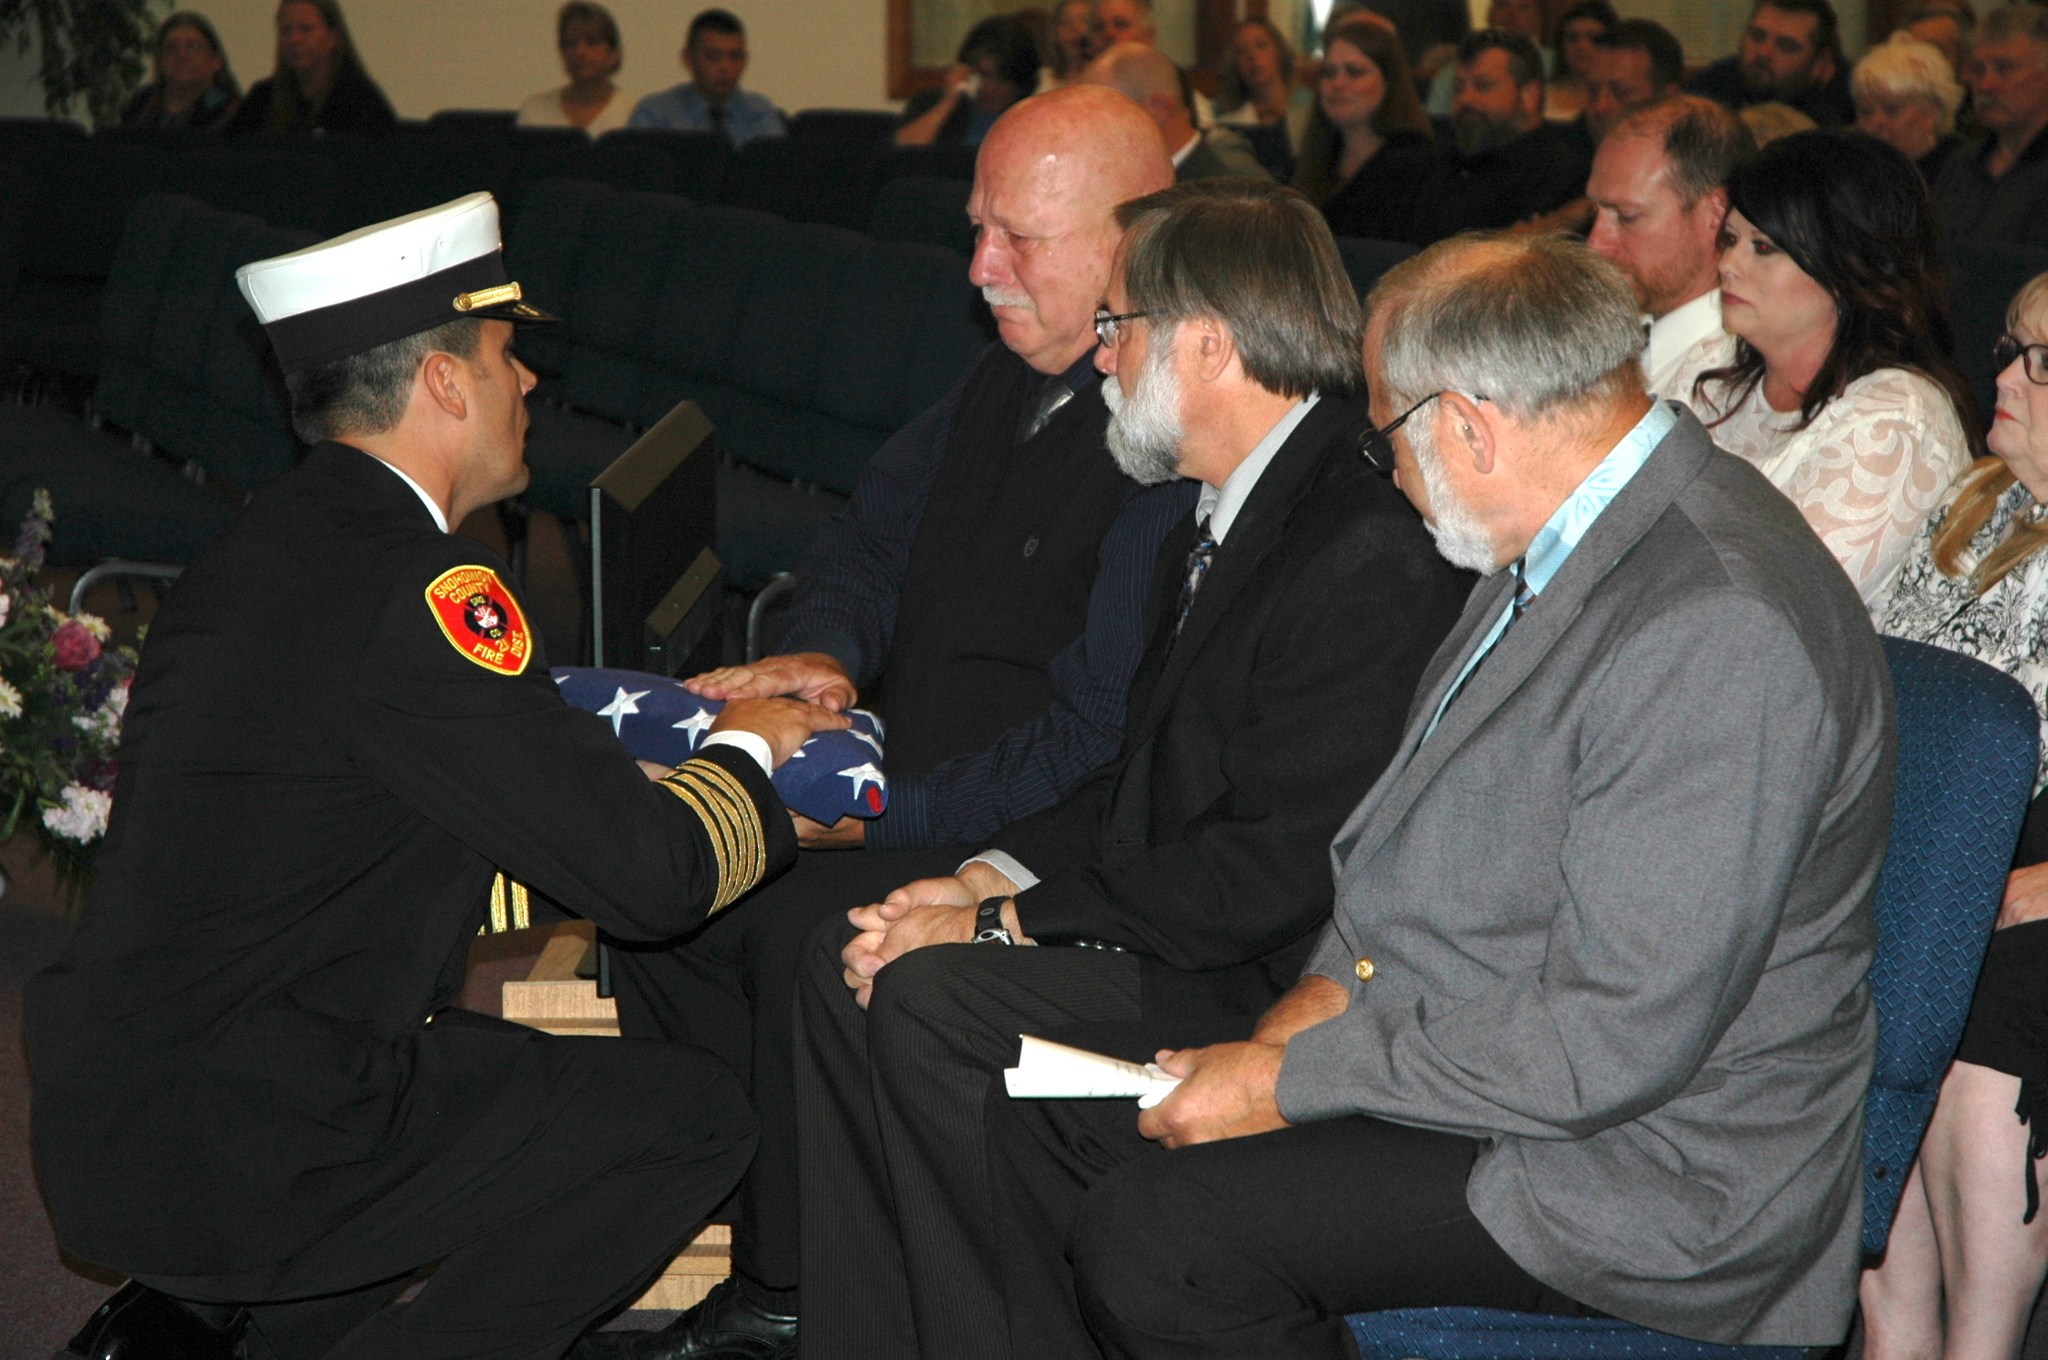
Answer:
[[[1679,401],[1706,367],[1733,358],[1720,328],[1720,225],[1729,172],[1755,152],[1722,104],[1673,94],[1622,117],[1593,154],[1589,244],[1622,270],[1649,317],[1642,377]],[[1704,344],[1708,340],[1724,344]]]

